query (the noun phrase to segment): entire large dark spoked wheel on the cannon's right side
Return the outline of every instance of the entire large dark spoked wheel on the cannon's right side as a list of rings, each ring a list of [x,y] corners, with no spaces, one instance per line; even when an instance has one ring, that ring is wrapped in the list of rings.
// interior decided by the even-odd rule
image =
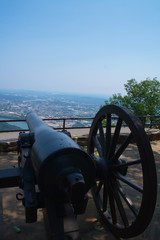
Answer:
[[[104,227],[117,237],[139,235],[157,194],[154,156],[140,121],[125,107],[104,106],[93,120],[88,153],[96,164],[92,194]]]

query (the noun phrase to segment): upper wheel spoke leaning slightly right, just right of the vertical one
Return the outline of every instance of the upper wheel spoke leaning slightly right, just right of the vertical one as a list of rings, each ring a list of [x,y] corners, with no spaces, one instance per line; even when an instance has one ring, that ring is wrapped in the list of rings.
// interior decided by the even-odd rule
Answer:
[[[111,147],[110,147],[110,151],[109,151],[109,159],[111,159],[112,156],[115,153],[115,149],[116,149],[116,146],[117,146],[121,126],[122,126],[122,119],[118,118],[116,128],[115,128],[115,132],[114,132],[113,139],[112,139],[112,143],[111,143]]]

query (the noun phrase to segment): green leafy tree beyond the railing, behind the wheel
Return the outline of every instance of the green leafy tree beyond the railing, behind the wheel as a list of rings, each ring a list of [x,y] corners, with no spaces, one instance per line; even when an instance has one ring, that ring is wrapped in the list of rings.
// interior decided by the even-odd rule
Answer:
[[[160,82],[157,78],[147,78],[140,83],[130,79],[124,84],[124,88],[127,95],[113,94],[105,104],[125,106],[137,116],[160,114]]]

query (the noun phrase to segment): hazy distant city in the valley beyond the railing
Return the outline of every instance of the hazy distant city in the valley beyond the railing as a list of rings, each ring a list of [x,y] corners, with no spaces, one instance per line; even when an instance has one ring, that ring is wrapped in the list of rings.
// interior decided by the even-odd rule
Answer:
[[[31,111],[41,118],[94,117],[106,99],[107,96],[0,90],[0,120],[25,119]],[[86,125],[87,122],[70,122],[70,125]],[[20,124],[22,123],[18,126]],[[55,123],[56,126],[57,124]]]

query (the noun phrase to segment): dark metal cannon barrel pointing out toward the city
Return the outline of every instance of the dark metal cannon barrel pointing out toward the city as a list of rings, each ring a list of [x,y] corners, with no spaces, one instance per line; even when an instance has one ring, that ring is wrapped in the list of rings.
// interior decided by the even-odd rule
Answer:
[[[71,137],[55,131],[35,113],[26,117],[34,134],[32,165],[40,191],[52,199],[77,201],[91,188],[95,166],[91,157]],[[67,194],[66,194],[67,193]]]

